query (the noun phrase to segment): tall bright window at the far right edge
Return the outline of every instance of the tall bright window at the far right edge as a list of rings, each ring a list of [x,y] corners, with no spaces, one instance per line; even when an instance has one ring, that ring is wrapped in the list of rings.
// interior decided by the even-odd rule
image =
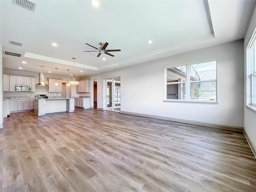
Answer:
[[[246,104],[256,106],[256,29],[246,48]]]

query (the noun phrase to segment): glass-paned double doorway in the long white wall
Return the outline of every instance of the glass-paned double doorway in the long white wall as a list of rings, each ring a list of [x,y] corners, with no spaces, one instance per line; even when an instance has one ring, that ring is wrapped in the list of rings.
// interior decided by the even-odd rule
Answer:
[[[105,110],[120,111],[121,81],[120,77],[105,79]]]

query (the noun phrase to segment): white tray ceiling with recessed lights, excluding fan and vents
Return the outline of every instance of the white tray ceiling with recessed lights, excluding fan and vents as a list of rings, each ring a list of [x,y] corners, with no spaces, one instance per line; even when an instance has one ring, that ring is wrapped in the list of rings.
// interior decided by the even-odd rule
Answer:
[[[100,0],[94,8],[88,0],[33,0],[31,12],[0,1],[0,44],[4,51],[4,69],[28,72],[73,72],[87,76],[190,50],[205,48],[244,38],[256,1],[202,0]],[[9,44],[9,40],[23,46]],[[147,41],[152,40],[152,44]],[[51,45],[58,44],[57,47]],[[94,50],[99,42],[114,57]],[[102,58],[106,60],[102,60]],[[22,64],[26,61],[27,64]],[[80,72],[82,70],[83,72]]]

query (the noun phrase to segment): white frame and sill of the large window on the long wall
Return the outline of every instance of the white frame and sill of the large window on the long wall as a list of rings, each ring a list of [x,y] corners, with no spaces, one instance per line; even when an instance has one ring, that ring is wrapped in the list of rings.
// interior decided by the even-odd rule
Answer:
[[[190,66],[196,63],[204,63],[204,62],[211,62],[216,61],[216,79],[209,79],[209,80],[198,80],[198,81],[190,81]],[[173,68],[177,66],[186,66],[186,82],[169,82],[167,83],[166,76],[167,76],[167,69]],[[211,58],[207,60],[200,60],[195,62],[189,62],[185,64],[178,64],[173,66],[166,66],[164,67],[164,102],[183,102],[183,103],[202,103],[202,104],[218,104],[218,94],[217,94],[217,71],[218,71],[218,65],[217,65],[217,58]],[[190,100],[190,83],[196,83],[196,82],[216,82],[216,100],[215,101],[204,101],[204,100]],[[189,96],[186,96],[185,100],[181,99],[167,99],[167,85],[168,84],[186,84],[186,93],[189,93]]]

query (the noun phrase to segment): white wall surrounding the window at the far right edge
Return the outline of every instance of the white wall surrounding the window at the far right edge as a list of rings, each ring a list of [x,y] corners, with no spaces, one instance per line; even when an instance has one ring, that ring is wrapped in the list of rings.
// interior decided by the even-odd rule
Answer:
[[[256,28],[256,6],[254,7],[254,12],[250,23],[248,25],[246,35],[244,37],[244,104],[247,104],[249,101],[246,100],[248,96],[246,95],[246,47],[248,42]],[[252,112],[244,106],[244,130],[250,140],[252,147],[256,150],[256,113]]]

